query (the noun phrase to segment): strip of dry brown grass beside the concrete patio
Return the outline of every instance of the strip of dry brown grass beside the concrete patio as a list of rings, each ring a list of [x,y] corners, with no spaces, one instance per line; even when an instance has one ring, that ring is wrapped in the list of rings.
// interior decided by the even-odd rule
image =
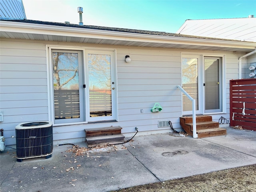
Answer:
[[[112,192],[256,192],[256,164]]]

